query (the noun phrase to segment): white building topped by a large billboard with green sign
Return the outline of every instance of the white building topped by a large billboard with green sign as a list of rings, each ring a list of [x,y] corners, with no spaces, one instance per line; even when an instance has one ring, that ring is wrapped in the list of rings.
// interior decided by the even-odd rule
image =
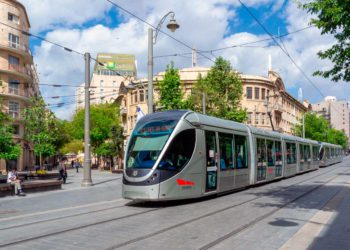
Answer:
[[[136,60],[128,54],[97,54],[91,79],[90,103],[114,102],[119,95],[121,82],[136,78]],[[77,109],[85,106],[84,83],[76,90]]]

